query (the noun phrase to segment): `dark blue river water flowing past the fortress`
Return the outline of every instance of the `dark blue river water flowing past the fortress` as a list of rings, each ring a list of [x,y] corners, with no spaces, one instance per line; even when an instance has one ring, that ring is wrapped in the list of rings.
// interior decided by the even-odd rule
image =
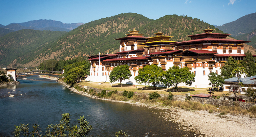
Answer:
[[[164,110],[88,98],[37,75],[18,81],[21,84],[0,87],[0,136],[13,136],[14,125],[20,123],[30,123],[30,128],[37,123],[41,129],[58,124],[63,113],[71,114],[71,125],[78,125],[84,115],[93,126],[88,134],[93,137],[113,137],[119,130],[136,137],[195,136],[165,121]]]

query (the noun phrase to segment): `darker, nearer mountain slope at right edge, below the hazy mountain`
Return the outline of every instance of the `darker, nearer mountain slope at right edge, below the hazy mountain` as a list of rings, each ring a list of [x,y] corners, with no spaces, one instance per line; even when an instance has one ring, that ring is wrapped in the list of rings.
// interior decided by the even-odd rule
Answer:
[[[243,35],[239,35],[237,37],[235,37],[236,39],[239,40],[247,40],[247,41],[251,41],[249,43],[247,43],[248,45],[256,48],[256,29],[254,29],[252,32],[250,33],[246,33]]]

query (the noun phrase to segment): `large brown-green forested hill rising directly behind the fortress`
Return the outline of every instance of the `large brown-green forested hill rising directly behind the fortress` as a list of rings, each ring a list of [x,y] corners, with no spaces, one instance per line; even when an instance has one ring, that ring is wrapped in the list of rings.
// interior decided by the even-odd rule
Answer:
[[[171,40],[189,40],[187,35],[202,33],[202,29],[214,26],[198,19],[177,15],[166,15],[158,20],[150,20],[140,14],[126,13],[109,18],[103,18],[86,23],[67,33],[61,40],[48,45],[48,51],[43,56],[58,52],[59,58],[88,56],[97,54],[99,49],[103,53],[111,53],[118,49],[119,41],[114,38],[125,37],[132,28],[140,30],[146,37],[154,36],[160,31],[167,36],[174,36]],[[223,33],[216,29],[216,33]]]

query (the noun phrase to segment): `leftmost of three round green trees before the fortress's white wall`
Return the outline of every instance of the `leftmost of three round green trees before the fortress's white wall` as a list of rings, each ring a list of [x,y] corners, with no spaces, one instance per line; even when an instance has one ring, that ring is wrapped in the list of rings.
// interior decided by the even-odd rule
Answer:
[[[132,76],[128,65],[121,65],[115,67],[109,75],[110,82],[119,81],[122,87],[122,81],[129,79]]]

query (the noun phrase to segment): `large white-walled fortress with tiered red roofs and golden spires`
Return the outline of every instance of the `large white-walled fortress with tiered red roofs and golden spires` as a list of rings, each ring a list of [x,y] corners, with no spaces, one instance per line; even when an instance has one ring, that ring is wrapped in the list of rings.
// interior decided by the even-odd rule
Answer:
[[[204,33],[188,36],[191,40],[176,42],[171,41],[171,36],[162,36],[155,33],[156,37],[142,37],[135,29],[120,40],[119,52],[111,55],[91,56],[90,76],[86,80],[92,82],[110,82],[109,74],[118,65],[130,66],[132,77],[122,83],[137,84],[134,77],[138,75],[139,68],[146,65],[158,65],[164,71],[172,66],[188,67],[195,73],[195,82],[191,87],[206,88],[209,85],[208,74],[221,73],[227,58],[232,56],[243,60],[243,40],[227,39],[230,34],[212,33],[209,27]],[[143,42],[144,41],[144,42]],[[100,80],[99,80],[100,79]],[[183,86],[180,84],[179,86]]]

